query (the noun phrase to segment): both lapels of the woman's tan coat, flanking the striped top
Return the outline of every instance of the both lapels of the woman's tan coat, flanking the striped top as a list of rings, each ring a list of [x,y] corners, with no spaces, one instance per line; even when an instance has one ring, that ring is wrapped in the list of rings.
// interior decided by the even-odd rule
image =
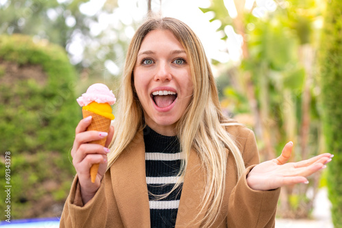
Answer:
[[[198,214],[205,188],[204,170],[192,149],[185,170],[185,180],[176,218],[176,227],[190,227]],[[111,183],[124,227],[150,227],[150,210],[145,169],[145,146],[142,131],[111,165]],[[200,220],[204,214],[196,218]],[[196,223],[196,222],[195,222]],[[200,224],[191,227],[200,227]]]

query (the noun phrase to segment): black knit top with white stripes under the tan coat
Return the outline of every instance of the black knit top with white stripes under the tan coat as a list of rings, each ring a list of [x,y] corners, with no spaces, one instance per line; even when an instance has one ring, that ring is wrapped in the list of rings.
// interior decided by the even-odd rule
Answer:
[[[148,126],[144,128],[146,182],[151,227],[174,227],[181,199],[183,184],[164,199],[154,195],[169,193],[176,183],[176,175],[181,168],[179,139],[158,134]]]

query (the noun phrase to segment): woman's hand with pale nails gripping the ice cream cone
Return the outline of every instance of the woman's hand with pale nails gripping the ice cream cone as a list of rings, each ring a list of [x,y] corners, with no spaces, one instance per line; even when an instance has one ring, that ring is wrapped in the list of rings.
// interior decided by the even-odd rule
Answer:
[[[95,130],[86,131],[90,125],[92,117],[81,119],[75,130],[76,136],[71,149],[71,156],[73,157],[73,165],[77,171],[79,184],[81,186],[81,197],[83,203],[86,204],[92,197],[94,197],[98,188],[100,188],[101,180],[107,169],[107,154],[109,143],[114,135],[114,127],[109,128],[109,132],[98,132]],[[98,139],[103,139],[107,136],[105,147],[102,145],[89,143]],[[93,164],[99,163],[96,180],[92,183],[90,179],[90,167]]]

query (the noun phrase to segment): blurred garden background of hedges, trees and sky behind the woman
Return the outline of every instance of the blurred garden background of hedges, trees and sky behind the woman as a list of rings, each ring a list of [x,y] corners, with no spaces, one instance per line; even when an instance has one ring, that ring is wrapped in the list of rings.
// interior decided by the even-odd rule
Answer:
[[[200,35],[222,109],[254,130],[261,160],[287,141],[292,161],[334,154],[308,185],[282,188],[277,219],[313,219],[317,193],[328,189],[330,220],[342,227],[337,0],[0,0],[0,212],[10,152],[11,218],[60,216],[75,175],[76,98],[92,83],[117,94],[129,40],[148,10]]]

